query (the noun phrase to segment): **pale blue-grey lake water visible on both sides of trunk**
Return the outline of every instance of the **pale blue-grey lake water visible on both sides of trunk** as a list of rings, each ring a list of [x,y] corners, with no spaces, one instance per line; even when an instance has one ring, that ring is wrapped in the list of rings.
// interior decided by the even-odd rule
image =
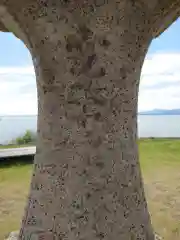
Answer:
[[[36,131],[36,116],[0,117],[0,144],[8,143],[25,131]],[[180,137],[180,115],[138,117],[139,137]]]

